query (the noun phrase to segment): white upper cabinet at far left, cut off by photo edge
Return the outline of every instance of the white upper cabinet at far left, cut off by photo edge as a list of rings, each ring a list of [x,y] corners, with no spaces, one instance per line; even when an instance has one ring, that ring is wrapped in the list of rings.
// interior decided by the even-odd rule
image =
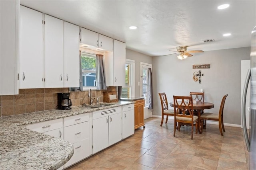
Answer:
[[[19,0],[0,0],[0,95],[18,94]]]

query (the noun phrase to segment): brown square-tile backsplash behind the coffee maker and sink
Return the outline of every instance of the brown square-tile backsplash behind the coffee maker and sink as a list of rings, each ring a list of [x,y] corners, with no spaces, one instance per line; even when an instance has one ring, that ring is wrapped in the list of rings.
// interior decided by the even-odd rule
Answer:
[[[18,95],[0,96],[1,117],[56,109],[57,93],[70,92],[69,88],[19,89]],[[102,90],[92,90],[92,98],[103,102]],[[89,104],[88,90],[70,92],[72,106]],[[96,99],[94,100],[96,103]]]

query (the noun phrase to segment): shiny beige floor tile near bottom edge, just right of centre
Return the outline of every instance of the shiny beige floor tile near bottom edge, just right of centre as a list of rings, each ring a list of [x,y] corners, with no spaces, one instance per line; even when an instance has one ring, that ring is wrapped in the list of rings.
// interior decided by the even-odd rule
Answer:
[[[138,158],[138,160],[136,160],[138,164],[142,164],[150,168],[157,168],[162,161],[163,158],[158,158],[149,154],[144,154],[140,158]]]

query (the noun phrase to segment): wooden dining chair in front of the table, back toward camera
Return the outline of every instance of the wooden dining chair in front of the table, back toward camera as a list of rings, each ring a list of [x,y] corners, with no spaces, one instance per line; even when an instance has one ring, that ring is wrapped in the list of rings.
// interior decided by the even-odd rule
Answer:
[[[194,123],[196,126],[196,134],[198,131],[198,116],[194,115],[192,96],[173,96],[174,101],[174,131],[176,133],[176,123],[178,123],[178,131],[180,125],[191,125],[191,139],[193,139]]]

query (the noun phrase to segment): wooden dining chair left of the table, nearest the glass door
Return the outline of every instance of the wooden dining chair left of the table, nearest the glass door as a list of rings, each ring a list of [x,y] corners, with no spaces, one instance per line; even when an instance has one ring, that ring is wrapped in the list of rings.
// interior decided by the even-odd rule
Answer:
[[[165,93],[158,93],[161,101],[161,106],[162,106],[162,120],[160,126],[163,125],[164,121],[164,115],[166,115],[166,121],[168,121],[168,116],[174,116],[174,110],[173,109],[168,109],[168,101]]]

